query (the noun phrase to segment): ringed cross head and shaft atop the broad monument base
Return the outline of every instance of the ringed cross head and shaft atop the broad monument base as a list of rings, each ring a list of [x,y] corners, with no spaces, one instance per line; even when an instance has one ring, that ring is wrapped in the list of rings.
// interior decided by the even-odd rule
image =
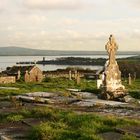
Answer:
[[[118,45],[116,44],[113,35],[110,35],[109,41],[107,42],[105,49],[107,50],[109,55],[109,64],[114,64],[116,62],[115,55],[118,50]]]

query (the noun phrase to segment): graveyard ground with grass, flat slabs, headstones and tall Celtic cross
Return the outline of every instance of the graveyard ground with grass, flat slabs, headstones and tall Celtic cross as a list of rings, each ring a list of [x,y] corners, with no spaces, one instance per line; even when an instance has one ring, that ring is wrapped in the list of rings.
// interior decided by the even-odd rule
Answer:
[[[112,35],[98,79],[45,77],[0,84],[2,140],[139,140],[140,79],[121,77]]]

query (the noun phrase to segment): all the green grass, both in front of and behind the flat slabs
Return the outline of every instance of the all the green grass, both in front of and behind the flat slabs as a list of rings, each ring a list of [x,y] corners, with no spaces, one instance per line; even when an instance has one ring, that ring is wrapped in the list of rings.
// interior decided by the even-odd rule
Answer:
[[[124,85],[130,94],[140,99],[140,79],[132,82],[129,86],[126,81]],[[65,93],[67,88],[78,88],[83,91],[99,93],[96,89],[96,81],[82,79],[79,85],[68,79],[46,79],[42,83],[6,84],[0,86],[17,87],[19,90],[0,89],[0,97],[17,95],[27,92],[48,91]],[[15,113],[0,114],[0,123],[16,122],[26,118],[40,118],[40,125],[33,127],[29,132],[30,140],[101,140],[100,133],[114,131],[116,127],[140,126],[140,120],[118,118],[115,116],[99,116],[97,114],[76,114],[72,111],[51,109],[48,107],[36,107],[27,109],[21,107]],[[135,136],[124,135],[122,140],[137,140]]]

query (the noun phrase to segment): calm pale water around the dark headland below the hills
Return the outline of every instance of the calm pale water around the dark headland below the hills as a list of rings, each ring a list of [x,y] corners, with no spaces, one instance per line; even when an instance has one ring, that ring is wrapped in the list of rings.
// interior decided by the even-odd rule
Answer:
[[[125,58],[134,55],[119,55],[117,58]],[[71,56],[44,56],[46,60],[52,60],[60,57],[71,57]],[[85,56],[72,56],[72,57],[90,57],[90,58],[107,58],[107,55],[85,55]],[[8,66],[16,65],[16,62],[21,61],[39,61],[42,60],[43,56],[0,56],[0,71],[5,70]],[[56,70],[56,69],[64,69],[69,67],[69,65],[37,65],[41,70]],[[75,66],[74,66],[75,67]],[[100,69],[102,66],[77,66],[82,68],[90,68],[90,69]]]

